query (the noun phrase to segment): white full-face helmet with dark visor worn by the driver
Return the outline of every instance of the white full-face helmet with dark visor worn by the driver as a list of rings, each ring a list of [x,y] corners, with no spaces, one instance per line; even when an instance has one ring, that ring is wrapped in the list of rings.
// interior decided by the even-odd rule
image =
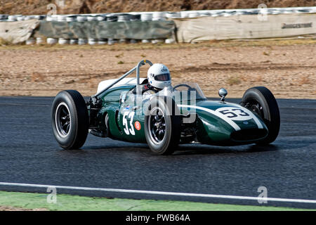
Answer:
[[[148,83],[157,89],[171,86],[171,76],[166,65],[154,63],[147,72]]]

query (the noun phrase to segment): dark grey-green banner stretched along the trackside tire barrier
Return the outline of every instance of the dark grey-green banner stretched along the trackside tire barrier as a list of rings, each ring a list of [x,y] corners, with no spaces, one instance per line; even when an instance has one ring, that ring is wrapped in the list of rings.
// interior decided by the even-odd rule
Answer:
[[[167,39],[172,37],[175,23],[169,21],[41,21],[37,35],[65,39]]]

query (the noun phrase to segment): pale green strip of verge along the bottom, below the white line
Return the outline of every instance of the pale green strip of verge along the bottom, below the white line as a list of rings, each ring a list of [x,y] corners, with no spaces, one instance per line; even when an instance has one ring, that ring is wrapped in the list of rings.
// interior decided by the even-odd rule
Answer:
[[[57,195],[56,203],[47,203],[48,194],[0,191],[0,209],[58,211],[298,211],[287,207],[224,205],[171,200],[131,200]],[[305,211],[305,210],[304,210]]]

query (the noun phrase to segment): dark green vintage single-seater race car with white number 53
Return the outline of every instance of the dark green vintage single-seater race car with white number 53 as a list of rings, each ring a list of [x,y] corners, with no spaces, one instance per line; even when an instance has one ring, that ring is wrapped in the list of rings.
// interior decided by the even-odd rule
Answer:
[[[119,79],[100,82],[88,101],[78,91],[60,91],[53,101],[53,134],[65,149],[81,148],[88,133],[102,138],[147,143],[152,153],[173,153],[179,143],[238,146],[272,143],[279,134],[279,108],[263,86],[248,89],[239,104],[209,101],[195,83],[144,91],[142,60]],[[136,78],[126,78],[136,71]]]

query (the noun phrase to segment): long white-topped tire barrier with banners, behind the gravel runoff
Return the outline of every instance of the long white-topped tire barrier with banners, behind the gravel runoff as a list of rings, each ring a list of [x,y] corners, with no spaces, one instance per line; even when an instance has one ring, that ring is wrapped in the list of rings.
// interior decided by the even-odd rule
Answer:
[[[34,43],[34,40],[37,44],[43,43],[43,36],[47,37],[48,44],[91,45],[133,44],[138,41],[154,44],[164,41],[170,44],[175,42],[176,37],[180,42],[192,43],[210,39],[291,37],[314,32],[315,13],[316,7],[72,15],[0,14],[0,38],[11,42],[15,39],[15,43],[17,40],[26,41],[25,37],[22,39],[13,37],[22,34],[11,32],[11,36],[8,37],[3,30],[4,27],[14,30],[16,23],[26,23],[32,20],[40,23],[38,30],[33,29],[32,37],[34,39],[27,41],[28,44]],[[268,15],[272,22],[261,21],[262,23],[258,23],[259,15]],[[250,20],[254,23],[249,22]],[[251,23],[260,27],[261,32],[256,27],[251,27]],[[279,30],[280,23],[282,23],[282,30]],[[20,27],[20,29],[22,28]],[[20,31],[20,33],[23,32]]]

